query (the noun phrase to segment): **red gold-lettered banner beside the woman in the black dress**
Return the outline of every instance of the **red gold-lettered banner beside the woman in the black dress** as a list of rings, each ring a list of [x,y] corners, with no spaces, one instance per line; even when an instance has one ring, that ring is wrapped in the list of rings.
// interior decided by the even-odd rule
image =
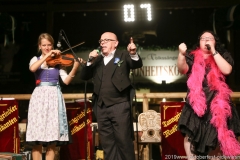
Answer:
[[[184,102],[162,102],[162,160],[186,159],[183,136],[177,129]]]

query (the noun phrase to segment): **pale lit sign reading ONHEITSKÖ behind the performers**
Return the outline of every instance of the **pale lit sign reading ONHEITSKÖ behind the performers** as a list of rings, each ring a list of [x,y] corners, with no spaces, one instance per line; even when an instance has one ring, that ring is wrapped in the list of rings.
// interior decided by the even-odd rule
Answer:
[[[77,52],[76,55],[86,60],[91,51],[92,50]],[[181,74],[177,68],[178,50],[139,49],[138,53],[142,58],[143,66],[133,70],[136,82],[154,84],[162,84],[163,82],[166,84],[186,82],[186,76]],[[79,77],[81,69],[82,68],[79,67],[79,71],[75,77]],[[82,82],[84,81],[81,81],[79,78],[74,78],[71,83]]]

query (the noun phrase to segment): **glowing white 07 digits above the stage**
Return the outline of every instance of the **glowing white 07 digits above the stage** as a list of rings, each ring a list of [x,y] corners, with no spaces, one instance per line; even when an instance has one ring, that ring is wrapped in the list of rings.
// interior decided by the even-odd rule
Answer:
[[[136,8],[136,10],[140,13],[144,11],[144,17],[145,20],[151,21],[152,20],[152,10],[151,10],[151,4],[140,4],[139,7]],[[136,16],[139,18],[140,14],[136,15],[135,6],[133,4],[127,4],[123,6],[123,12],[124,12],[124,21],[125,22],[134,22],[136,20]],[[143,19],[142,19],[143,20]]]

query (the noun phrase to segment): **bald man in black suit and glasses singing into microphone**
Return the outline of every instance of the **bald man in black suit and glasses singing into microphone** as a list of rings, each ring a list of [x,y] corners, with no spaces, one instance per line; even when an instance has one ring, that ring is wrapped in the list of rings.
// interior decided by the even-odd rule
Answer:
[[[132,100],[135,90],[130,70],[142,67],[130,38],[127,51],[117,49],[118,39],[105,32],[99,40],[101,54],[93,50],[82,68],[81,79],[93,79],[93,110],[105,160],[134,160]]]

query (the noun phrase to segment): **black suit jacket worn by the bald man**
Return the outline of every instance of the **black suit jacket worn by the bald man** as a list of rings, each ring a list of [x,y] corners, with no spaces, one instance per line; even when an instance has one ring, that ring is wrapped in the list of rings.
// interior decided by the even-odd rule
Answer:
[[[126,89],[131,85],[131,81],[129,78],[130,69],[141,68],[143,64],[140,56],[138,61],[134,61],[131,59],[129,53],[126,51],[116,50],[113,61],[115,61],[115,58],[119,58],[120,61],[123,62],[120,66],[118,66],[118,64],[114,64],[112,61],[110,61],[110,64],[108,64],[111,65],[111,71],[109,72],[109,74],[112,75],[112,83],[121,92],[122,90]],[[92,65],[84,66],[80,74],[80,78],[82,80],[89,80],[90,78],[93,78],[94,93],[96,95],[99,94],[99,90],[101,87],[102,61],[103,57],[101,55],[98,56]]]

